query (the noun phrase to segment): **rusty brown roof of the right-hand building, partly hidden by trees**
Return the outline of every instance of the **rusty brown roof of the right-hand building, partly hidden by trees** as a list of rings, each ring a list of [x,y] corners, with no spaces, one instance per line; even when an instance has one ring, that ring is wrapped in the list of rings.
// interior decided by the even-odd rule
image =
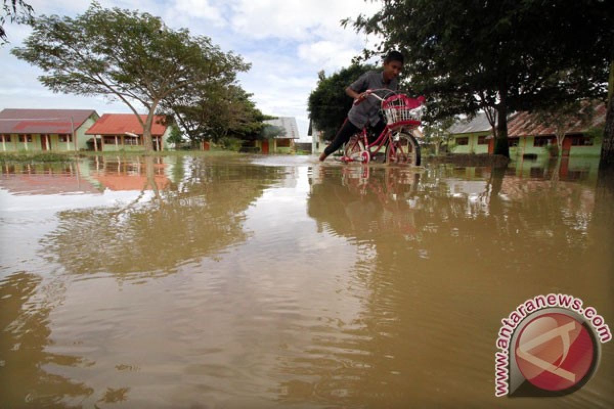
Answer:
[[[578,120],[565,131],[565,134],[580,134],[593,126],[601,126],[605,123],[605,112],[605,104],[597,105],[591,123],[583,124]],[[554,132],[552,126],[547,127],[539,123],[529,112],[518,112],[507,121],[508,137],[546,136],[554,135]]]

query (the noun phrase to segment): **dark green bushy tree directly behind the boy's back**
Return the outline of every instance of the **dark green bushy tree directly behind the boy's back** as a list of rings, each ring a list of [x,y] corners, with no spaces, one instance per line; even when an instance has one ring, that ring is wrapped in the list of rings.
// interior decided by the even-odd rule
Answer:
[[[373,68],[370,65],[352,64],[329,77],[326,77],[324,71],[319,73],[317,87],[309,94],[308,111],[317,128],[324,131],[325,140],[335,137],[354,102],[346,95],[345,89]]]

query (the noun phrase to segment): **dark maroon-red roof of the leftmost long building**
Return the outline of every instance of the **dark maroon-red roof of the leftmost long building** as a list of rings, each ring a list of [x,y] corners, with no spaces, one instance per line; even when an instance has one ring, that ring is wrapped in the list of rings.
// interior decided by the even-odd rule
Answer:
[[[4,109],[0,134],[70,134],[91,115],[92,109]],[[72,118],[72,127],[71,127]]]

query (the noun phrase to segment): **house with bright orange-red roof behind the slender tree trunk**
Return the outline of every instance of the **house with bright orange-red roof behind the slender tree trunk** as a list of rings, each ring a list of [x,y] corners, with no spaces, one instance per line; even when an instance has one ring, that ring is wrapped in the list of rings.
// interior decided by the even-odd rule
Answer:
[[[140,117],[143,121],[147,120],[147,115],[140,115]],[[144,149],[143,126],[133,113],[105,113],[85,134],[93,136],[90,140],[95,150]],[[154,115],[151,134],[153,150],[169,148],[167,139],[171,134],[171,126],[166,122],[165,115]],[[94,140],[96,140],[96,145],[93,145]]]

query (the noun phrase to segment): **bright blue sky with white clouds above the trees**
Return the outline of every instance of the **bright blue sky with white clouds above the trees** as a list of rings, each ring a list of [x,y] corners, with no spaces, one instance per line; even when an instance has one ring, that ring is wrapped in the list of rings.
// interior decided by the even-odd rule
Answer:
[[[76,17],[88,2],[29,0],[35,15]],[[327,75],[349,66],[375,37],[342,28],[340,20],[372,15],[381,4],[362,0],[99,0],[105,8],[139,10],[157,15],[173,29],[211,37],[224,52],[233,51],[251,63],[239,74],[244,90],[268,115],[295,117],[301,140],[308,140],[307,99],[317,73]],[[5,25],[10,44],[0,47],[0,110],[6,108],[95,109],[131,112],[122,102],[104,97],[54,94],[37,77],[41,69],[10,54],[31,32],[27,26]],[[146,113],[142,110],[142,113]]]

